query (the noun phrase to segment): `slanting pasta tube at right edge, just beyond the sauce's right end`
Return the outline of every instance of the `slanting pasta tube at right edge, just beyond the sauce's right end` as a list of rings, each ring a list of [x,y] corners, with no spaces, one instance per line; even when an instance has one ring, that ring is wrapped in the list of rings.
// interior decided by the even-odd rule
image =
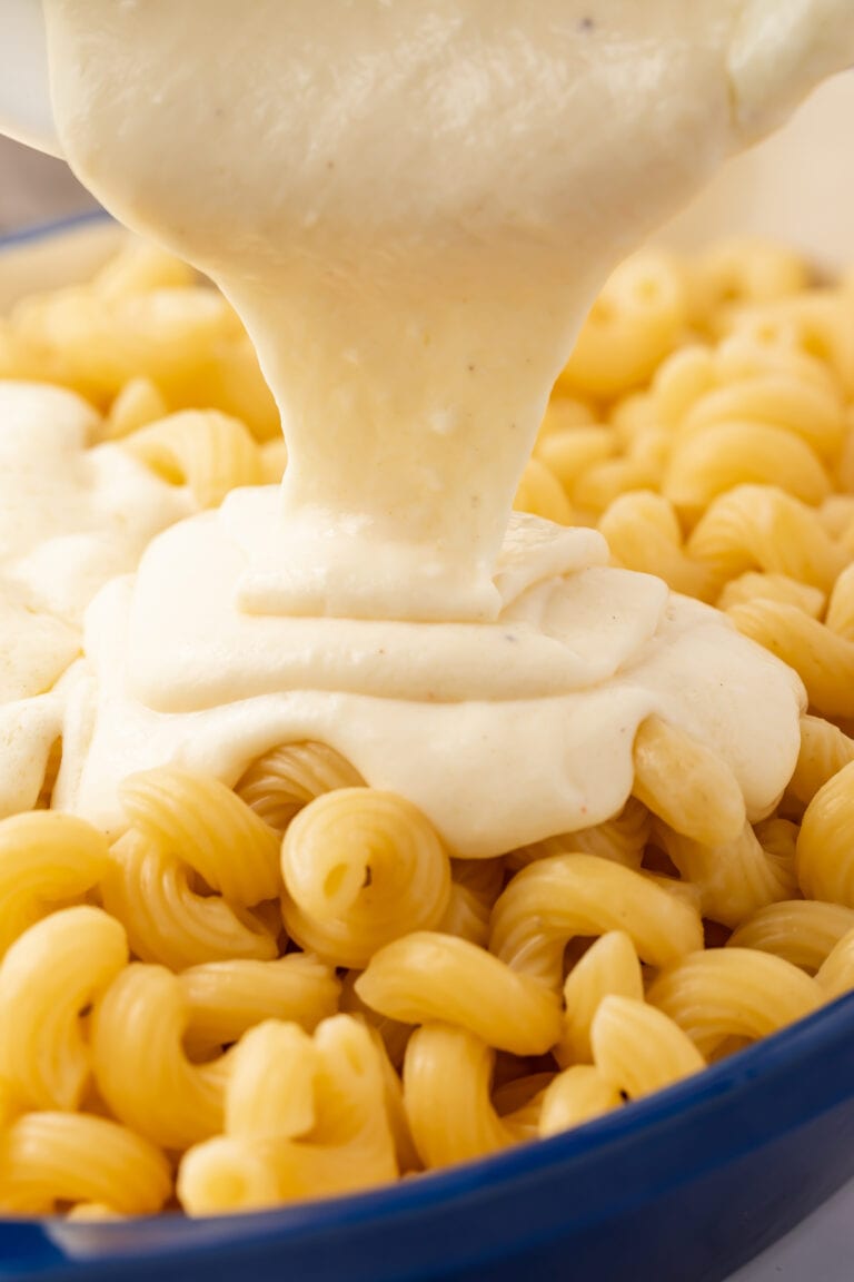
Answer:
[[[736,605],[729,614],[739,632],[795,669],[817,713],[854,717],[854,641],[778,601]]]

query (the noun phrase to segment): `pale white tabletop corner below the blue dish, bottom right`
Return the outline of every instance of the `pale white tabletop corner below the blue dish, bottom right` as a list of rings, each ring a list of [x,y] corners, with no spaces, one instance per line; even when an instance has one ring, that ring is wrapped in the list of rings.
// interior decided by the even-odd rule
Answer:
[[[854,1181],[730,1282],[851,1282]]]

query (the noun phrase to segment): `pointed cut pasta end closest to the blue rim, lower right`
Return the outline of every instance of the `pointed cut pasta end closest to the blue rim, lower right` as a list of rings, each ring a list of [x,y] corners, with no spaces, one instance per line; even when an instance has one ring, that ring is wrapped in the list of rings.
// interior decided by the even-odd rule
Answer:
[[[609,994],[590,1026],[593,1063],[630,1100],[699,1073],[705,1060],[677,1023],[643,999]]]

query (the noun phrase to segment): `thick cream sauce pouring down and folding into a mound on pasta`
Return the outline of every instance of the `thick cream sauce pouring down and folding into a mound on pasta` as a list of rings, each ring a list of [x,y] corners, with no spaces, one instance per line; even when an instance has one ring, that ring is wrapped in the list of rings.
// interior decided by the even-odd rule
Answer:
[[[65,155],[236,304],[289,455],[92,605],[59,804],[117,824],[133,769],[309,736],[488,855],[615,813],[658,712],[766,813],[798,679],[590,532],[507,524],[604,276],[844,65],[848,0],[777,4],[776,63],[755,0],[45,10]]]

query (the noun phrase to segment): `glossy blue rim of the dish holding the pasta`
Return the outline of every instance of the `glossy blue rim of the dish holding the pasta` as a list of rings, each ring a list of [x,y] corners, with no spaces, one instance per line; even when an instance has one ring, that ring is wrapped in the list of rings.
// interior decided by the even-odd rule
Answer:
[[[74,232],[99,223],[111,223],[113,218],[104,209],[85,210],[67,218],[45,221],[0,236],[0,254],[17,246],[35,244]],[[794,1072],[799,1064],[816,1056],[827,1055],[834,1045],[854,1040],[854,991],[846,994],[813,1014],[798,1020],[759,1042],[739,1051],[717,1064],[703,1069],[695,1077],[658,1091],[644,1100],[632,1103],[625,1109],[606,1114],[581,1127],[552,1136],[547,1140],[533,1140],[504,1153],[494,1154],[476,1161],[462,1163],[444,1170],[419,1174],[396,1185],[351,1194],[338,1197],[325,1197],[318,1201],[300,1203],[273,1210],[255,1211],[241,1215],[219,1217],[216,1219],[191,1220],[174,1217],[149,1217],[134,1222],[134,1251],[143,1255],[151,1264],[159,1259],[175,1259],[183,1255],[196,1255],[225,1245],[234,1247],[251,1242],[257,1246],[273,1242],[283,1236],[300,1236],[301,1232],[314,1232],[319,1228],[344,1227],[355,1223],[370,1223],[383,1219],[388,1222],[412,1211],[425,1211],[438,1208],[453,1199],[483,1194],[485,1196],[499,1186],[513,1183],[531,1176],[542,1176],[549,1168],[557,1168],[584,1156],[599,1154],[611,1145],[626,1140],[652,1142],[654,1132],[667,1123],[689,1120],[704,1105],[718,1101],[723,1096],[734,1096],[761,1077],[772,1077],[780,1072]],[[854,1087],[851,1088],[854,1095]],[[809,1118],[823,1109],[819,1101],[804,1109]],[[0,1219],[0,1242],[4,1231],[22,1224],[45,1226],[47,1236],[51,1218]],[[151,1242],[141,1242],[138,1231],[145,1233],[151,1227]],[[169,1226],[166,1233],[157,1232]],[[215,1226],[216,1232],[198,1240],[197,1229]],[[69,1236],[81,1236],[92,1226],[64,1224]],[[127,1250],[110,1251],[110,1238],[120,1241],[123,1224],[99,1224],[100,1245],[92,1253],[67,1254],[60,1264],[63,1276],[72,1278],[87,1267],[109,1264],[127,1259]],[[26,1273],[20,1274],[22,1277]]]

